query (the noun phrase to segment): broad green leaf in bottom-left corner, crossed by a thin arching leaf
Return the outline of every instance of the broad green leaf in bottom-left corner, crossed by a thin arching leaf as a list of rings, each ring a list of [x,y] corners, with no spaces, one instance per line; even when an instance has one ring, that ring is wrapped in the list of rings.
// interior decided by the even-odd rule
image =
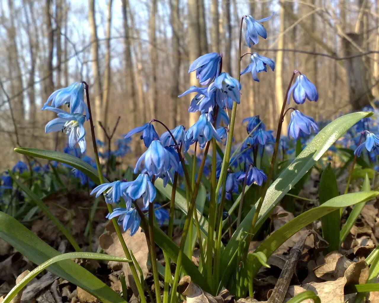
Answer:
[[[0,212],[0,238],[35,264],[42,264],[60,255],[59,251],[47,245],[20,222],[4,212]],[[109,286],[74,261],[59,261],[52,264],[49,271],[85,289],[104,303],[125,303]]]

